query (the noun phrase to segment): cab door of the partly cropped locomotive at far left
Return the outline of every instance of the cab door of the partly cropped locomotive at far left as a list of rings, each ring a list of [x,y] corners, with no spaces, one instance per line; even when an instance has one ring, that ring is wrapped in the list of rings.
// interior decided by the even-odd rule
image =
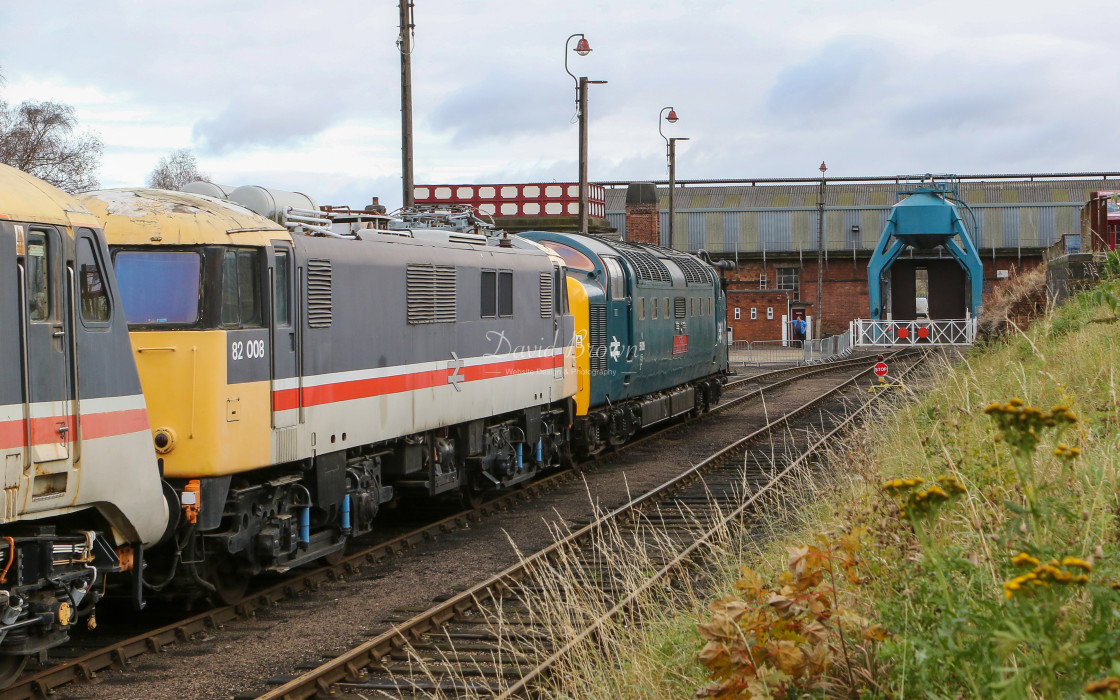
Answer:
[[[17,240],[18,240],[17,230]],[[17,243],[18,245],[18,243]],[[55,483],[45,475],[65,472],[69,442],[76,439],[71,416],[71,333],[63,237],[47,226],[28,227],[24,234],[24,264],[19,268],[21,325],[24,327],[25,410],[29,420],[26,436],[30,445],[28,468],[44,475],[34,496],[63,495],[65,475]]]

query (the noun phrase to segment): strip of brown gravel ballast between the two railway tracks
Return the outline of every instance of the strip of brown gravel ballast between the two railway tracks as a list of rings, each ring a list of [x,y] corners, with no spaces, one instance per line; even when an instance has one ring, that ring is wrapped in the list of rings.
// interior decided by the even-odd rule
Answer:
[[[197,698],[227,700],[252,697],[269,680],[292,676],[318,665],[385,628],[394,610],[427,608],[452,587],[475,584],[552,542],[548,523],[568,525],[591,519],[592,501],[613,508],[663,484],[716,448],[749,432],[764,416],[801,405],[837,375],[810,377],[774,390],[765,402],[709,417],[619,455],[544,496],[513,506],[445,534],[412,552],[367,566],[347,580],[321,587],[314,595],[288,599],[249,620],[227,625],[213,635],[177,644],[161,654],[138,659],[127,671],[99,674],[95,682],[60,688],[56,698],[118,699]],[[847,374],[846,374],[847,376]],[[737,394],[735,394],[737,395]],[[765,407],[764,407],[765,404]],[[512,542],[512,544],[511,544]]]

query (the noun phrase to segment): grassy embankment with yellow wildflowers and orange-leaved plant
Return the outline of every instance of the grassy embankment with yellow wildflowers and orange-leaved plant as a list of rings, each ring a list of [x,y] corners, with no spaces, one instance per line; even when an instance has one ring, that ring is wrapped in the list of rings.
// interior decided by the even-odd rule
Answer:
[[[775,504],[769,536],[755,525],[712,548],[722,600],[648,599],[553,692],[1114,694],[1120,284],[1102,289],[973,351],[921,394],[899,389],[831,474],[802,475],[812,497]],[[572,609],[573,595],[557,599]]]

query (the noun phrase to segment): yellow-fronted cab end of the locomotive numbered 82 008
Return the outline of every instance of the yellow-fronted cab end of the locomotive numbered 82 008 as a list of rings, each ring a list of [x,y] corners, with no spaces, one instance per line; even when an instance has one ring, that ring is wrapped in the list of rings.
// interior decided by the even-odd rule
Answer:
[[[289,267],[277,270],[278,256],[290,265],[288,231],[197,195],[103,190],[82,200],[113,251],[165,478],[271,464],[267,302],[269,280],[290,278]]]

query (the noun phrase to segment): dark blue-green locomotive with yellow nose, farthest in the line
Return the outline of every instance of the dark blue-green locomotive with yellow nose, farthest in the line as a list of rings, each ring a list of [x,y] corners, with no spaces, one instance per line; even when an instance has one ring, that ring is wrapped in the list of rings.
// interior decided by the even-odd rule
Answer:
[[[642,428],[719,401],[727,373],[727,298],[694,255],[596,235],[532,231],[576,282],[573,447],[594,455]]]

